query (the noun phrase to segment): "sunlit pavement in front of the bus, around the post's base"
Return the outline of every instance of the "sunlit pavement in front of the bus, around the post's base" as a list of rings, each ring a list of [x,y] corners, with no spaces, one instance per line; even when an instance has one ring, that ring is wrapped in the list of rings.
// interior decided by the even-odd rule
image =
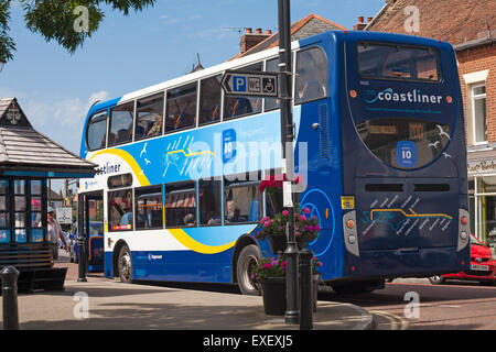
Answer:
[[[263,312],[261,297],[177,287],[123,284],[87,277],[68,267],[64,292],[19,295],[21,330],[299,330]],[[1,305],[0,305],[1,310]],[[0,318],[2,314],[0,314]],[[373,316],[358,306],[319,301],[314,330],[371,330]]]

